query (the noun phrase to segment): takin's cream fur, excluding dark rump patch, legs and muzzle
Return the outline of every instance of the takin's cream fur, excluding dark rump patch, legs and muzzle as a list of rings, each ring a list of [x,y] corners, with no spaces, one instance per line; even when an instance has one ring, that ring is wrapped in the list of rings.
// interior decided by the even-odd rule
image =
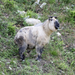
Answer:
[[[50,40],[50,35],[52,34],[53,31],[56,31],[54,27],[54,22],[56,21],[55,18],[53,18],[53,22],[50,22],[49,20],[46,20],[44,23],[39,23],[41,25],[35,25],[35,26],[28,26],[21,28],[18,33],[15,36],[15,41],[16,39],[20,38],[20,36],[23,36],[25,39],[25,42],[27,44],[30,44],[30,38],[29,37],[29,31],[32,33],[32,37],[36,37],[34,40],[36,41],[35,45],[37,44],[39,46],[44,46],[47,43],[49,43]],[[17,43],[19,44],[19,43]],[[32,43],[31,43],[32,44]]]

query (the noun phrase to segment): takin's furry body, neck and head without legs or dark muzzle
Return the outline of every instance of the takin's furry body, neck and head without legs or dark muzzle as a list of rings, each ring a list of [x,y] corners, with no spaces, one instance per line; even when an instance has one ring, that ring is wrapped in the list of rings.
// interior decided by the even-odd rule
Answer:
[[[56,31],[54,22],[57,21],[54,17],[52,21],[47,19],[43,23],[39,23],[34,26],[27,26],[21,28],[15,38],[14,41],[19,47],[29,47],[32,49],[33,47],[36,48],[43,48],[46,44],[49,43],[50,35],[52,32]],[[38,55],[39,52],[37,52]]]

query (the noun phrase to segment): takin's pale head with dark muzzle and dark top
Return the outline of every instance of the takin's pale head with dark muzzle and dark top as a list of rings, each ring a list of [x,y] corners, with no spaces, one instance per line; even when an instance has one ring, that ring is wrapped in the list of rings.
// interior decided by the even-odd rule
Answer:
[[[56,31],[59,28],[57,17],[49,17],[49,29]]]

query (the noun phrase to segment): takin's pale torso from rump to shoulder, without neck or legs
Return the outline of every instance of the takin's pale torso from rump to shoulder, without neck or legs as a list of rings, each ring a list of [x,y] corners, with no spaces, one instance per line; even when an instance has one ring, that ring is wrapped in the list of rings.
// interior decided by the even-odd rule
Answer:
[[[29,46],[36,46],[36,44],[46,44],[48,37],[46,36],[42,23],[39,26],[28,26],[21,28],[15,36],[17,44],[20,44],[17,40],[21,42],[26,42]],[[23,38],[23,39],[22,39]]]

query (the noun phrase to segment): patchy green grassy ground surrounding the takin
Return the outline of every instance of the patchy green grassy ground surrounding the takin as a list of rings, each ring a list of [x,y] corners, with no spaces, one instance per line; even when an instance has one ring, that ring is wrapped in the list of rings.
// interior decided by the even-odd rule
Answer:
[[[75,1],[42,0],[46,2],[42,9],[35,0],[0,0],[0,75],[75,75]],[[28,12],[20,16],[17,10]],[[35,61],[35,50],[26,55],[21,62],[18,47],[14,44],[16,31],[27,26],[23,20],[30,16],[42,22],[48,16],[57,16],[60,22],[61,36],[54,32],[50,43],[45,47],[41,62]]]

